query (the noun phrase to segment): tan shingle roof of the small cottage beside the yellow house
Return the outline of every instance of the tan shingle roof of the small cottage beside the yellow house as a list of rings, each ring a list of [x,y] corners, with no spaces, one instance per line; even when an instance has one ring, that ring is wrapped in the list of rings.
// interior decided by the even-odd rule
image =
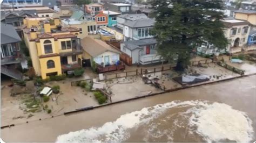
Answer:
[[[117,49],[114,49],[110,45],[106,44],[104,41],[93,39],[91,37],[83,38],[81,40],[81,45],[84,51],[90,54],[92,57],[98,56],[107,51],[120,54],[120,52]]]

